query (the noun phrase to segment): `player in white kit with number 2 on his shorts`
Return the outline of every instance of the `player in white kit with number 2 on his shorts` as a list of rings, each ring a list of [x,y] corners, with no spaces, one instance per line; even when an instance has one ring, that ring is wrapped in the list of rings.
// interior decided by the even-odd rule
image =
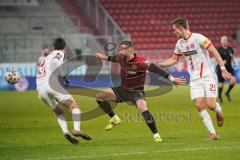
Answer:
[[[179,38],[173,56],[159,65],[169,67],[176,64],[183,56],[188,65],[190,74],[191,99],[203,120],[204,125],[209,131],[209,140],[217,140],[219,136],[214,129],[212,119],[209,116],[206,105],[209,109],[216,112],[218,126],[223,125],[223,114],[221,106],[216,102],[217,98],[217,76],[211,66],[209,54],[211,54],[221,67],[222,76],[231,79],[231,74],[224,67],[224,62],[211,41],[198,33],[191,33],[188,21],[185,18],[176,18],[172,21],[174,34]]]

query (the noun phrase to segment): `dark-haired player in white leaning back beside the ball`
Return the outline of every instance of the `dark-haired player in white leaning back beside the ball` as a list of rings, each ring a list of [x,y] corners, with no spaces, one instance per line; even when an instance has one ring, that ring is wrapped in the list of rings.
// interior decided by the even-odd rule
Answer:
[[[63,38],[57,38],[54,41],[54,51],[48,54],[38,68],[36,83],[38,97],[48,105],[57,116],[58,123],[64,133],[64,137],[72,144],[78,144],[78,138],[91,140],[91,137],[80,130],[80,109],[73,97],[61,87],[58,77],[62,76],[64,81],[67,79],[63,76],[61,65],[65,54],[66,42]],[[54,88],[54,89],[53,89]],[[61,105],[67,106],[72,112],[74,130],[68,131],[67,121]]]

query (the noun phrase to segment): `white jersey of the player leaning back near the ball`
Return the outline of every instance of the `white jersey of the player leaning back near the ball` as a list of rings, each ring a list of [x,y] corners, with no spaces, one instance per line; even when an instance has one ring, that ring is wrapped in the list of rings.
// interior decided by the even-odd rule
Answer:
[[[64,53],[60,50],[54,50],[45,57],[38,68],[36,76],[37,88],[44,83],[49,83],[49,78],[53,71],[63,64],[63,58]],[[61,71],[61,69],[59,71]],[[62,72],[56,72],[56,74],[61,75]],[[58,75],[55,77],[57,78],[57,76]]]

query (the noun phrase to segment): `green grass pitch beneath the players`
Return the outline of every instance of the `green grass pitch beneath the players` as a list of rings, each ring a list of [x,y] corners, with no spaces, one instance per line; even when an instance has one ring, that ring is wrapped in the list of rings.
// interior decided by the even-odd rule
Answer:
[[[82,111],[96,106],[95,99],[76,96]],[[225,97],[224,97],[225,98]],[[208,141],[189,87],[176,87],[168,94],[147,98],[155,114],[163,142],[155,143],[137,109],[120,104],[116,113],[123,123],[105,131],[106,115],[82,122],[82,130],[93,137],[72,145],[64,139],[54,114],[37,98],[36,92],[0,92],[0,159],[240,159],[240,87],[232,92],[232,103],[222,104],[225,123],[218,128],[219,141]],[[70,127],[72,127],[70,125]]]

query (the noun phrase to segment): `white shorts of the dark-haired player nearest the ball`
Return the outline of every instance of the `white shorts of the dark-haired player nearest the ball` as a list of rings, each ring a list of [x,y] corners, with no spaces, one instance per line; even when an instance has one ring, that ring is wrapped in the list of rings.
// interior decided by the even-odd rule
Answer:
[[[41,84],[37,87],[38,98],[46,103],[51,109],[55,109],[58,103],[64,103],[66,100],[74,101],[74,98],[60,85],[58,89],[52,89],[48,83]]]

